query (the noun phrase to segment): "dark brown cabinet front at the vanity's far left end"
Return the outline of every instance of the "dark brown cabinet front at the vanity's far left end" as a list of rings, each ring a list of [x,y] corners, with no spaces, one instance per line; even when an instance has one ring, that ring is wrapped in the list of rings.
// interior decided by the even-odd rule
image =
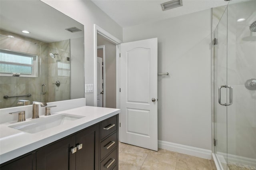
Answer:
[[[35,154],[29,154],[18,160],[11,162],[1,167],[1,170],[36,170],[36,156]]]

